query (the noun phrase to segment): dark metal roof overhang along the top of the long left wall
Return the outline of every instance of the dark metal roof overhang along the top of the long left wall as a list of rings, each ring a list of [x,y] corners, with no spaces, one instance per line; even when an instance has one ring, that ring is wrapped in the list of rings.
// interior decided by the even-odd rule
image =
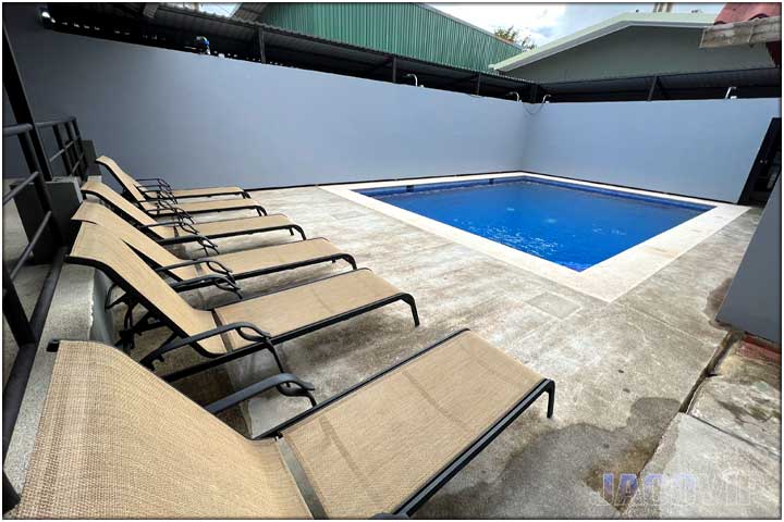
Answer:
[[[52,17],[58,20],[51,28],[66,33],[189,51],[195,51],[194,39],[199,35],[210,40],[212,52],[241,60],[266,61],[383,82],[392,80],[394,69],[397,83],[409,83],[405,75],[414,73],[420,84],[429,88],[466,94],[478,91],[481,96],[505,99],[511,99],[511,91],[527,99],[532,89],[532,84],[528,82],[500,76],[493,71],[480,75],[465,67],[303,35],[255,21],[228,18],[171,4],[160,4],[155,18],[150,20],[143,18],[143,10],[142,3],[49,4]],[[88,30],[91,26],[96,26],[96,30]],[[260,57],[260,40],[264,40],[266,49],[264,58]]]

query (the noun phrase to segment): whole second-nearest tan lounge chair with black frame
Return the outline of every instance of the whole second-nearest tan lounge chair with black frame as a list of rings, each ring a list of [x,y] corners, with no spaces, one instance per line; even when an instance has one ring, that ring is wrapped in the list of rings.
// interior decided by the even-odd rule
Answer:
[[[209,358],[166,375],[163,378],[167,381],[193,375],[260,350],[269,350],[278,368],[285,372],[275,345],[397,301],[411,307],[414,324],[419,325],[414,297],[368,269],[199,310],[172,289],[131,247],[95,228],[97,225],[82,223],[65,261],[100,270],[128,296],[131,304],[126,310],[120,343],[130,347],[136,335],[168,326],[172,331],[171,336],[146,355],[139,361],[142,364],[152,369],[155,361],[185,346]],[[134,324],[136,304],[142,304],[147,311]]]

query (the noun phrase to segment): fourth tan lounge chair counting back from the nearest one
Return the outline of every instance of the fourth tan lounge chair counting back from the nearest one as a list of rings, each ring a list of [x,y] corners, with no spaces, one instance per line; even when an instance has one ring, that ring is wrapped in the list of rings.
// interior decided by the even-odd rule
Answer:
[[[179,215],[174,216],[174,221],[157,222],[100,182],[90,179],[82,185],[82,192],[99,198],[160,245],[198,243],[205,249],[205,252],[209,248],[216,253],[220,253],[211,239],[273,231],[289,231],[291,235],[294,235],[294,231],[296,231],[305,239],[305,232],[302,227],[292,223],[283,214],[241,217],[210,223],[193,223]]]

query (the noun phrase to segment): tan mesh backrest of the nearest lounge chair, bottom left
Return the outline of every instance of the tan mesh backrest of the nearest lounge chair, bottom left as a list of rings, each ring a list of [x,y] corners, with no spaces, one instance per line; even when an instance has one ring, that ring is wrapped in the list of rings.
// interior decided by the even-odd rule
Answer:
[[[309,517],[274,442],[244,438],[114,348],[60,344],[16,518]]]

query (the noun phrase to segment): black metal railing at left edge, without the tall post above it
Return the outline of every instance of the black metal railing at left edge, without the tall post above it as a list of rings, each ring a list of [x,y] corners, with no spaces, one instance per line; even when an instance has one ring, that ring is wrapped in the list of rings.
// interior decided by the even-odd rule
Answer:
[[[62,122],[73,122],[74,134],[69,140],[71,145],[63,142],[60,151],[58,151],[52,159],[39,158],[39,154],[36,153],[33,141],[35,139],[34,126],[32,124],[24,123],[3,127],[3,141],[14,137],[17,138],[27,164],[27,173],[25,173],[24,177],[14,184],[8,192],[3,194],[3,209],[11,201],[15,202],[17,198],[20,198],[20,195],[25,194],[27,206],[29,206],[30,199],[34,200],[37,206],[37,209],[25,208],[23,210],[27,213],[27,217],[32,219],[32,216],[40,216],[37,220],[37,224],[27,231],[27,245],[22,249],[22,252],[19,258],[15,259],[10,270],[7,266],[7,260],[3,256],[2,311],[5,323],[8,324],[17,347],[16,357],[11,365],[8,381],[5,382],[5,386],[3,388],[3,464],[5,463],[11,437],[13,436],[14,428],[16,427],[16,420],[19,419],[25,388],[27,387],[27,382],[33,370],[33,363],[38,351],[44,325],[46,323],[47,314],[49,313],[49,308],[54,296],[54,289],[57,288],[57,283],[60,278],[60,272],[62,271],[63,260],[66,253],[63,232],[60,229],[58,222],[54,219],[51,199],[49,198],[49,191],[46,186],[47,179],[45,179],[45,172],[48,170],[42,169],[41,165],[42,162],[47,162],[47,165],[50,166],[51,161],[56,161],[58,158],[64,157],[69,153],[69,150],[76,150],[76,148],[81,148],[81,138],[77,134],[78,129],[75,126],[75,119],[66,119],[57,123],[45,122],[37,124],[36,126],[56,127],[57,125],[61,125]],[[7,153],[10,147],[7,145]],[[83,162],[84,158],[76,159],[76,162],[72,163],[70,169],[72,169],[75,173],[77,172],[79,164]],[[83,170],[86,172],[86,167],[83,167]],[[34,195],[34,198],[29,198],[27,195]],[[41,259],[40,252],[47,252],[45,259]],[[49,254],[49,252],[51,253]],[[32,259],[35,259],[36,262],[50,263],[50,269],[44,279],[44,285],[38,294],[35,306],[33,307],[33,312],[28,316],[25,312],[22,300],[20,299],[20,294],[16,290],[15,279],[24,265]],[[5,476],[5,471],[3,470],[3,512],[13,508],[17,502],[19,495]]]

